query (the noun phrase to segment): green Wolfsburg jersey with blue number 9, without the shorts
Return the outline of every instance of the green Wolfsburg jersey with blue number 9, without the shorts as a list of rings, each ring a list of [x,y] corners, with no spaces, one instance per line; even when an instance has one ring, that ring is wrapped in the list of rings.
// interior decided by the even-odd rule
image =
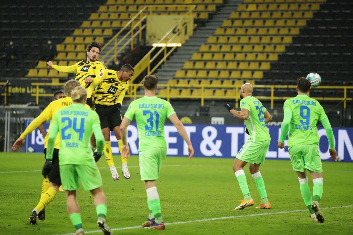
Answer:
[[[316,124],[318,120],[327,118],[327,115],[317,100],[307,95],[297,95],[285,101],[285,112],[292,112],[288,146],[319,144]]]

